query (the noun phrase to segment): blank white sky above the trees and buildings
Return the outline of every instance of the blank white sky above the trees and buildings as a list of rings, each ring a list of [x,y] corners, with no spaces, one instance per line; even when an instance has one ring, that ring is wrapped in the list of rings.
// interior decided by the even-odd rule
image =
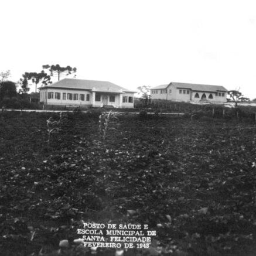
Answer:
[[[44,64],[136,90],[213,84],[256,98],[255,0],[1,0],[0,72]],[[35,91],[35,87],[31,88]]]

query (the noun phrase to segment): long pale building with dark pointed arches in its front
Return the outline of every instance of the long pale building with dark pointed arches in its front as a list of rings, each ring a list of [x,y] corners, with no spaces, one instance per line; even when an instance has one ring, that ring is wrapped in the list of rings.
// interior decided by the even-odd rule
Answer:
[[[227,90],[223,86],[171,82],[151,88],[151,98],[152,100],[226,103]]]

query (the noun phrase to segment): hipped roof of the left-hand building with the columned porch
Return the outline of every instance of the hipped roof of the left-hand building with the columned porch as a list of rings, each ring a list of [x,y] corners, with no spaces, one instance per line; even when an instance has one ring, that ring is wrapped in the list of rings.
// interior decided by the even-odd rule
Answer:
[[[42,86],[39,89],[43,88],[69,88],[112,93],[120,93],[122,90],[127,93],[134,93],[134,91],[127,90],[124,87],[117,86],[116,84],[110,83],[108,81],[82,80],[76,78],[64,78],[63,80],[57,81],[56,83]]]

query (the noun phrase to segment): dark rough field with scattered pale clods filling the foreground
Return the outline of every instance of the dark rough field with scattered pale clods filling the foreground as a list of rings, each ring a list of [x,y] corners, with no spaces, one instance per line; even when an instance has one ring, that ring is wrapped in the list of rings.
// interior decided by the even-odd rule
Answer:
[[[125,255],[255,255],[255,124],[120,115],[103,142],[76,113],[47,143],[50,116],[0,120],[0,255],[57,255],[83,221],[156,230]]]

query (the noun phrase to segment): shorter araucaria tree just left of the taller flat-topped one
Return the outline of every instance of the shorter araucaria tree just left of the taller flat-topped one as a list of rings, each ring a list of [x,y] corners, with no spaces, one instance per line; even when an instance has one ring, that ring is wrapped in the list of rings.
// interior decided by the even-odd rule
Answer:
[[[23,78],[21,78],[21,83],[22,83],[22,89],[23,91],[28,91],[28,81],[32,81],[33,84],[35,84],[36,86],[36,90],[37,90],[37,84],[42,83],[43,85],[47,85],[49,83],[52,83],[50,81],[50,76],[45,73],[45,71],[41,71],[40,73],[36,73],[36,72],[25,72],[22,75]],[[36,92],[35,90],[35,92]]]

